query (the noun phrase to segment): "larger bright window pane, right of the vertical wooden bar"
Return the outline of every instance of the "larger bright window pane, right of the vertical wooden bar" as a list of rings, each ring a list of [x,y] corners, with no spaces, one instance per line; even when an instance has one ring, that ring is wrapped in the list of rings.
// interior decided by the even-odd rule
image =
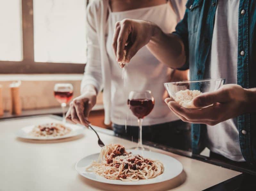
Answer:
[[[36,62],[86,62],[85,0],[34,0]]]

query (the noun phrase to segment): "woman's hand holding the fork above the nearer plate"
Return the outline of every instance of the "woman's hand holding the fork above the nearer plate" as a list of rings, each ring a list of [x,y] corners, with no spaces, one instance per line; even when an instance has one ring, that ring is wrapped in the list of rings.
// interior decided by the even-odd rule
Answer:
[[[87,88],[86,91],[70,102],[70,108],[66,114],[66,120],[79,123],[88,127],[88,116],[96,104],[97,92],[94,88]]]

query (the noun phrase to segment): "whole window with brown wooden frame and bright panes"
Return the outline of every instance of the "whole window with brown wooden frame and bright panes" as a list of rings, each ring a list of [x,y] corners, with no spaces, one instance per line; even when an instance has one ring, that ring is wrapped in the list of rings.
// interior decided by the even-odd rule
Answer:
[[[83,73],[87,3],[0,1],[0,73]]]

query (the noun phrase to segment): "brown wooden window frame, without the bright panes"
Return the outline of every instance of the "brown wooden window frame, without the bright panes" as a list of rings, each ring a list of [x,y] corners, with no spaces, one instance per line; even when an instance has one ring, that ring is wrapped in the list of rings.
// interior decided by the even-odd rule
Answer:
[[[86,5],[89,0],[85,0]],[[82,74],[86,64],[35,62],[33,0],[21,0],[22,10],[22,61],[0,61],[1,74]]]

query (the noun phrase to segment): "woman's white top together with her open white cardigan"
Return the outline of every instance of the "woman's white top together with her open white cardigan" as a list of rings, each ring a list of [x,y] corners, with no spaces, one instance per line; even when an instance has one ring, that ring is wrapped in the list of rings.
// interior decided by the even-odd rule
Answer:
[[[173,9],[167,4],[136,10],[111,12],[107,18],[108,0],[95,0],[87,8],[87,65],[81,90],[93,84],[98,91],[104,87],[103,103],[105,124],[111,121],[137,125],[136,117],[127,106],[130,90],[151,90],[155,97],[155,107],[144,121],[144,125],[178,120],[164,103],[164,82],[167,82],[171,69],[167,68],[143,47],[127,66],[127,90],[124,91],[121,79],[122,70],[116,62],[111,43],[115,22],[124,18],[144,19],[155,22],[165,32],[172,32],[185,11],[185,0],[172,0]],[[161,19],[160,19],[161,18]],[[146,69],[146,70],[145,70]],[[130,116],[130,117],[129,117]]]

